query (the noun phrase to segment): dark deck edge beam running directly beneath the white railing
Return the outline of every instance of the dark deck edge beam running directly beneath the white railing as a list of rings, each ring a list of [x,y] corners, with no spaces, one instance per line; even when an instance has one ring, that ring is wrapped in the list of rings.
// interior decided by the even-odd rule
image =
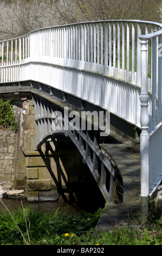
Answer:
[[[69,107],[69,109],[80,111],[106,111],[101,106],[94,105],[92,102],[82,100],[79,97],[63,92],[62,90],[51,88],[47,84],[38,83],[35,81],[22,81],[15,83],[0,83],[0,93],[5,99],[25,99],[30,95],[36,94],[37,96],[47,99],[58,107]],[[114,140],[120,143],[126,143],[130,146],[140,144],[139,127],[119,118],[115,114],[110,113],[110,134]]]

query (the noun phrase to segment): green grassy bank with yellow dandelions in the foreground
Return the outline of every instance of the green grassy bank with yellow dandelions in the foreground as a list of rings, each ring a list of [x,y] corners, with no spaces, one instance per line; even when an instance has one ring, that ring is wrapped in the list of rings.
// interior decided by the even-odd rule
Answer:
[[[0,214],[0,245],[162,245],[158,222],[153,222],[151,228],[135,229],[121,224],[97,231],[102,210],[94,214],[84,212],[84,217],[64,215],[60,208],[53,215],[29,206],[7,210]]]

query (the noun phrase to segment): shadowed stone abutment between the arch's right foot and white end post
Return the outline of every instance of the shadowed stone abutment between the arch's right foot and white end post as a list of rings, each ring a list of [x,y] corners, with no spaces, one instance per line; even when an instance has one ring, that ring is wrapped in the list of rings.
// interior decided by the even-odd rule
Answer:
[[[114,227],[127,222],[128,213],[138,213],[140,209],[140,153],[125,144],[100,144],[100,147],[118,166],[124,185],[122,204],[106,204],[97,225],[98,230]]]

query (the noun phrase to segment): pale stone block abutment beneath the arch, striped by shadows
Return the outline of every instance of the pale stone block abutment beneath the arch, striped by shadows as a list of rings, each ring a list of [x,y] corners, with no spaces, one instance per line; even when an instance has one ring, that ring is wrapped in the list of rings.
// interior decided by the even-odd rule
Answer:
[[[58,200],[58,189],[67,191],[67,186],[81,175],[82,157],[77,151],[24,151],[23,154],[28,202]]]

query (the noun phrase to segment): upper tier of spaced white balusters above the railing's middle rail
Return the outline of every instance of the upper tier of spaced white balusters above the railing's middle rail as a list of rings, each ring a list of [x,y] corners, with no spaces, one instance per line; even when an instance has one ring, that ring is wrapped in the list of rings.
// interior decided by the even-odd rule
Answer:
[[[16,72],[17,65],[39,61],[99,72],[140,85],[138,36],[159,29],[161,25],[154,22],[111,20],[39,29],[4,40],[0,51],[1,81],[17,81],[18,74],[21,76],[21,70]]]

